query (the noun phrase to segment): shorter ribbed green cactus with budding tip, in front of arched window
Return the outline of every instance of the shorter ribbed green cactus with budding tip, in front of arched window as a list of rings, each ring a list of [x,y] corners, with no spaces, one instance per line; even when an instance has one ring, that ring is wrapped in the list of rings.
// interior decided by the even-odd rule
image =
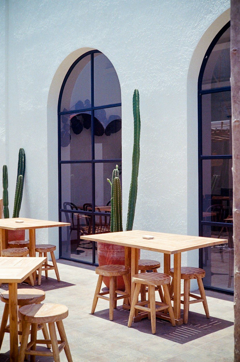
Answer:
[[[123,231],[122,228],[122,191],[119,179],[118,165],[113,170],[111,185],[111,232]]]

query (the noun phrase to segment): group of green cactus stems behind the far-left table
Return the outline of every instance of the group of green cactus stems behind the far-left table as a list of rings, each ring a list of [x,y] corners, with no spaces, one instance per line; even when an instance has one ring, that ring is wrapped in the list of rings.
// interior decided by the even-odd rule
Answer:
[[[25,174],[25,152],[23,148],[20,148],[18,153],[18,167],[17,167],[17,184],[14,197],[13,207],[13,218],[19,217],[21,202],[22,202],[22,191],[24,185],[24,174]],[[3,166],[3,214],[4,218],[9,218],[8,210],[8,168],[6,165]]]

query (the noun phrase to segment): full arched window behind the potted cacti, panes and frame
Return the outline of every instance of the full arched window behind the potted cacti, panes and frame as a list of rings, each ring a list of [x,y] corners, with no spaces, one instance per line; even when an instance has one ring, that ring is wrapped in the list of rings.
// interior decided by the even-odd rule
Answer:
[[[122,166],[121,88],[110,60],[98,50],[77,59],[58,103],[60,257],[97,264],[97,244],[80,236],[110,232],[107,178]]]

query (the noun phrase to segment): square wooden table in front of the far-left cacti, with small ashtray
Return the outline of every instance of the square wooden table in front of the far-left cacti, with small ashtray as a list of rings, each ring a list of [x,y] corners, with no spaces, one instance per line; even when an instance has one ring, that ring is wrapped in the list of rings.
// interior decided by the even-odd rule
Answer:
[[[16,220],[24,220],[23,223],[16,223]],[[69,223],[60,223],[57,221],[47,221],[26,218],[0,219],[0,253],[2,249],[8,248],[8,230],[29,230],[29,256],[35,257],[35,230],[46,227],[70,226]],[[1,255],[2,256],[2,255]],[[36,282],[36,273],[33,273],[34,284]]]

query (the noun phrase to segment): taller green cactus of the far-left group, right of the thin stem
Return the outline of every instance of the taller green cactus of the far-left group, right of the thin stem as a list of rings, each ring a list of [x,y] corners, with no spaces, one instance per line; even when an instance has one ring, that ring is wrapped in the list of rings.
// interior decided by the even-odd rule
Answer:
[[[19,217],[20,207],[22,203],[22,191],[24,185],[24,174],[25,174],[25,152],[23,148],[20,148],[18,153],[18,165],[17,165],[17,183],[14,197],[14,207],[13,207],[13,218]],[[20,176],[22,176],[20,178]]]

